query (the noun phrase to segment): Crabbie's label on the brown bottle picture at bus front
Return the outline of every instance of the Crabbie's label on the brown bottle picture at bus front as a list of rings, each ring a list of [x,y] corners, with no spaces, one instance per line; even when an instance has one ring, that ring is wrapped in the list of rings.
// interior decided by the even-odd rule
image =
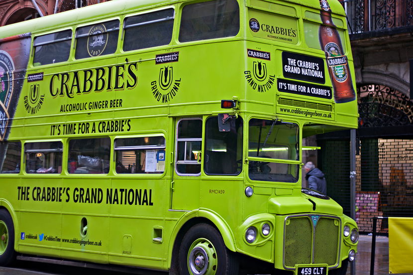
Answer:
[[[347,58],[341,53],[340,47],[336,43],[330,42],[325,45],[324,51],[328,54],[328,57],[332,58],[330,62],[327,60],[327,65],[330,67],[335,80],[338,82],[346,81],[348,77]]]

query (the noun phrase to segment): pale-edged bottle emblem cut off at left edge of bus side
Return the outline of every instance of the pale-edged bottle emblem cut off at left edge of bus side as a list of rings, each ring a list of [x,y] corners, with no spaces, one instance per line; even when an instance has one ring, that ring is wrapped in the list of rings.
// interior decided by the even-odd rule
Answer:
[[[7,108],[13,93],[14,64],[7,52],[0,50],[0,140],[3,140],[8,121]]]

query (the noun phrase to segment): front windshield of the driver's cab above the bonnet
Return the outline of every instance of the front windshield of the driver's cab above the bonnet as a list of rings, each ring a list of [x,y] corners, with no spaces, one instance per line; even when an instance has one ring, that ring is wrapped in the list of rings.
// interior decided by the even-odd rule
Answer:
[[[249,121],[248,157],[266,160],[250,161],[249,178],[256,181],[298,181],[299,127],[296,123],[256,119]]]

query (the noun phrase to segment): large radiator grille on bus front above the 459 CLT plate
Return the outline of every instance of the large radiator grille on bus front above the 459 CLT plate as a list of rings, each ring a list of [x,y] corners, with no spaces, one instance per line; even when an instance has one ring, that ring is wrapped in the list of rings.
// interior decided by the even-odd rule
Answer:
[[[310,216],[294,216],[285,223],[284,267],[295,265],[338,264],[340,220],[319,216],[313,226]]]

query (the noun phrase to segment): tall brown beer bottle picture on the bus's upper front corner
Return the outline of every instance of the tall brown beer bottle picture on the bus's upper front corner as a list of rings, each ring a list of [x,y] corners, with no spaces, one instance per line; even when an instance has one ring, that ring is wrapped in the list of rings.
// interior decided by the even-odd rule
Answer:
[[[334,101],[344,103],[356,99],[347,56],[344,55],[340,35],[331,18],[327,0],[320,0],[322,25],[318,30],[321,49],[325,52],[328,72],[333,86]]]

